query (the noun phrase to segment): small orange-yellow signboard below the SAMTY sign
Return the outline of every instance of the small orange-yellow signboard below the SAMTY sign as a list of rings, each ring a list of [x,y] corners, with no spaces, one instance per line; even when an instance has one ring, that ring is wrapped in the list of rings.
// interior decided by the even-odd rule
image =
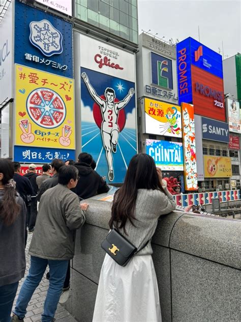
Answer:
[[[232,166],[230,157],[204,155],[203,163],[205,178],[222,178],[232,176]]]

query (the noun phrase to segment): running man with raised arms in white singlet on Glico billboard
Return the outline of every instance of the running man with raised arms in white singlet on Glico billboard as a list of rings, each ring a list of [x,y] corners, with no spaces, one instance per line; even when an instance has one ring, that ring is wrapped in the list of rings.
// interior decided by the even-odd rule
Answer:
[[[129,90],[128,95],[120,101],[116,101],[115,91],[113,88],[107,87],[105,89],[105,98],[100,97],[91,83],[89,83],[88,76],[85,72],[81,74],[84,83],[87,87],[89,94],[96,101],[101,108],[102,123],[101,123],[101,135],[106,151],[106,159],[109,166],[108,178],[110,181],[114,179],[113,169],[113,153],[116,153],[116,145],[118,144],[119,126],[117,123],[119,111],[125,108],[130,99],[135,93],[134,88]]]

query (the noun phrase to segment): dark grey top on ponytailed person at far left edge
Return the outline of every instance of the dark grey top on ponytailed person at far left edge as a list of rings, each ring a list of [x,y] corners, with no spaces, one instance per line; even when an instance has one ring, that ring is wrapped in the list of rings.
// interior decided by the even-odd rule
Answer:
[[[0,190],[0,202],[4,190]],[[0,219],[0,286],[18,282],[25,272],[25,220],[26,206],[22,198],[16,197],[21,206],[16,221],[6,226]]]

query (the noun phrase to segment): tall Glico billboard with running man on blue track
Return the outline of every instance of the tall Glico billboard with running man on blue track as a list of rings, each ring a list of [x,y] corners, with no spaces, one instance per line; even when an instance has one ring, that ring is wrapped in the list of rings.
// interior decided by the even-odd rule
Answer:
[[[107,181],[123,182],[137,153],[134,55],[79,36],[82,151]],[[79,48],[80,49],[80,48]]]

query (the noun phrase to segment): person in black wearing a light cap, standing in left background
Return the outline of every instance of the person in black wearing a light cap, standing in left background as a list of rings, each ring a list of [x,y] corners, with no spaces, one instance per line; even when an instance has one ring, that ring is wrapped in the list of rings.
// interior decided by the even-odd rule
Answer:
[[[24,174],[24,177],[30,181],[33,187],[33,194],[31,196],[31,205],[30,207],[27,207],[27,226],[28,226],[28,231],[33,232],[35,223],[36,223],[37,212],[38,212],[37,194],[38,194],[39,187],[36,182],[36,178],[38,177],[38,175],[35,173],[36,165],[32,163],[31,165],[29,165],[28,169],[29,171],[28,173]]]

